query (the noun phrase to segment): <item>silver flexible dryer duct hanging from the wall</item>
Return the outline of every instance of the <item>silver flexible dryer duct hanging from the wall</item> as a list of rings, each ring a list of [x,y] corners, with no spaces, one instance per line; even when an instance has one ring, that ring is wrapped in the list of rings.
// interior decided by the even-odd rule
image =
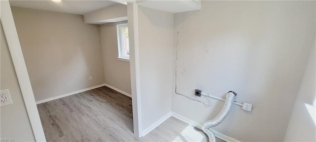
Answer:
[[[235,99],[236,93],[233,91],[228,92],[222,110],[217,114],[215,118],[204,122],[202,130],[208,136],[209,142],[216,142],[215,135],[210,128],[217,126],[226,118],[226,116],[228,115],[229,111],[233,106]]]

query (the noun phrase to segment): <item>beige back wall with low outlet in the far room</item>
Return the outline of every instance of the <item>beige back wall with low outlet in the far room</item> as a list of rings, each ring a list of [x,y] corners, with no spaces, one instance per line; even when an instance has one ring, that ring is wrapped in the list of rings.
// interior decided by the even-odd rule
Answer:
[[[98,25],[82,15],[11,9],[36,101],[104,83]]]

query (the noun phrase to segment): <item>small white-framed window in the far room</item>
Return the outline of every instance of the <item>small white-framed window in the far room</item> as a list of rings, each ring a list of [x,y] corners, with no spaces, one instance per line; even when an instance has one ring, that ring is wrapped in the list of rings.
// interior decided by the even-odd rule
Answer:
[[[117,32],[118,32],[118,60],[129,61],[127,24],[117,25]]]

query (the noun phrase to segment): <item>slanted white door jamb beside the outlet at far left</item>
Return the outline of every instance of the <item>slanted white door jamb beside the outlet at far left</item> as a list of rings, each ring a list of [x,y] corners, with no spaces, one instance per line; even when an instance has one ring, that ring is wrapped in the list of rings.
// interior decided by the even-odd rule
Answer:
[[[30,119],[33,134],[37,142],[46,142],[43,128],[40,122],[40,115],[35,103],[35,98],[26,69],[19,37],[16,32],[11,7],[8,0],[0,0],[0,20],[3,32],[7,40],[10,55],[12,58],[15,73],[19,82],[24,104]]]

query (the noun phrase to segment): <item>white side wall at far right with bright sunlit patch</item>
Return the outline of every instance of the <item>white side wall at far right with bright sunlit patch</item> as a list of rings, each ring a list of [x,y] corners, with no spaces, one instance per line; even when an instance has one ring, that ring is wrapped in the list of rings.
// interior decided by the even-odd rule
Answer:
[[[316,142],[316,57],[315,43],[312,46],[304,77],[298,92],[292,116],[287,127],[284,141]],[[310,105],[306,107],[305,104]],[[314,106],[314,108],[313,108]]]

